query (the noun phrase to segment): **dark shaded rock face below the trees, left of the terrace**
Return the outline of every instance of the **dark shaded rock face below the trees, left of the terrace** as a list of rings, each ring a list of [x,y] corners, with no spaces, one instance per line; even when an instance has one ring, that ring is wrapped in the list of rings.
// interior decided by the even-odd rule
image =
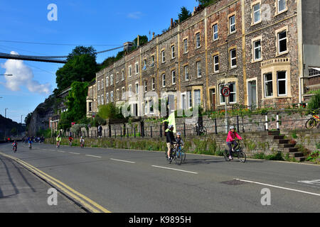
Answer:
[[[54,103],[55,99],[49,97],[45,102],[36,107],[28,126],[28,135],[36,135],[38,131],[49,128],[49,118],[54,115]]]

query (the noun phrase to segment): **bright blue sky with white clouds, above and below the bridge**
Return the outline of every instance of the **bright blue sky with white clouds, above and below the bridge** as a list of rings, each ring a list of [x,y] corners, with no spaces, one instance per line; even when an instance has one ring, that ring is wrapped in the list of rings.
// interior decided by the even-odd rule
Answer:
[[[48,21],[49,4],[58,6],[58,21]],[[181,6],[189,11],[196,0],[184,1],[0,1],[0,52],[21,55],[68,55],[75,45],[35,45],[11,43],[57,43],[94,45],[107,50],[149,32],[161,34],[178,18]],[[117,50],[119,51],[119,50]],[[117,51],[97,56],[97,62]],[[56,88],[55,72],[62,64],[0,60],[0,114],[21,122]]]

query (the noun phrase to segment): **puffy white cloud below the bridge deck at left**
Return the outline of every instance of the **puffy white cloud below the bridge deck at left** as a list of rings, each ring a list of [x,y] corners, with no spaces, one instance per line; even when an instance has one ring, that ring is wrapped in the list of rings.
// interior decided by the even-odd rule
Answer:
[[[12,51],[12,55],[18,55],[17,52]],[[12,77],[5,76],[6,87],[11,91],[20,91],[21,87],[28,88],[29,92],[38,94],[50,94],[51,85],[40,84],[34,80],[34,74],[30,67],[26,66],[22,60],[7,60],[1,65],[6,69],[5,74],[13,74]]]

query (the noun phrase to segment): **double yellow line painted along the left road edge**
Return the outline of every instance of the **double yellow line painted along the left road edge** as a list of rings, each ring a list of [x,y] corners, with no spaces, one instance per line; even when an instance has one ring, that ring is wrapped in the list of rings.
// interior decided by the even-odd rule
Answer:
[[[28,170],[33,172],[38,177],[41,177],[42,179],[45,179],[46,182],[54,185],[56,189],[59,189],[61,192],[64,192],[71,198],[73,198],[75,201],[77,201],[79,204],[81,204],[83,207],[85,207],[87,210],[92,211],[93,213],[111,213],[111,211],[108,211],[104,207],[97,204],[95,201],[92,201],[91,199],[87,198],[87,196],[84,196],[83,194],[80,194],[79,192],[75,191],[75,189],[70,188],[68,185],[64,184],[63,182],[60,182],[58,179],[55,179],[51,177],[50,175],[47,175],[45,172],[42,172],[41,170],[38,170],[36,167],[33,167],[32,165],[28,164],[27,162],[24,162],[23,160],[20,160],[16,157],[12,157],[10,155],[6,155],[4,153],[0,152],[0,155],[4,157],[8,157],[11,160],[14,160],[18,162],[23,167],[26,167]]]

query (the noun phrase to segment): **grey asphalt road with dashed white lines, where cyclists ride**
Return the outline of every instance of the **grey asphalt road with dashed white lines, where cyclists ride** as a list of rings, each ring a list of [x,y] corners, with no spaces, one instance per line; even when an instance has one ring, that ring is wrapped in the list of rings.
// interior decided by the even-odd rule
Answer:
[[[17,153],[9,144],[0,152],[116,213],[320,212],[319,165],[189,154],[175,165],[164,152],[45,144],[28,150],[21,143]],[[270,205],[262,205],[262,189],[270,190]]]

